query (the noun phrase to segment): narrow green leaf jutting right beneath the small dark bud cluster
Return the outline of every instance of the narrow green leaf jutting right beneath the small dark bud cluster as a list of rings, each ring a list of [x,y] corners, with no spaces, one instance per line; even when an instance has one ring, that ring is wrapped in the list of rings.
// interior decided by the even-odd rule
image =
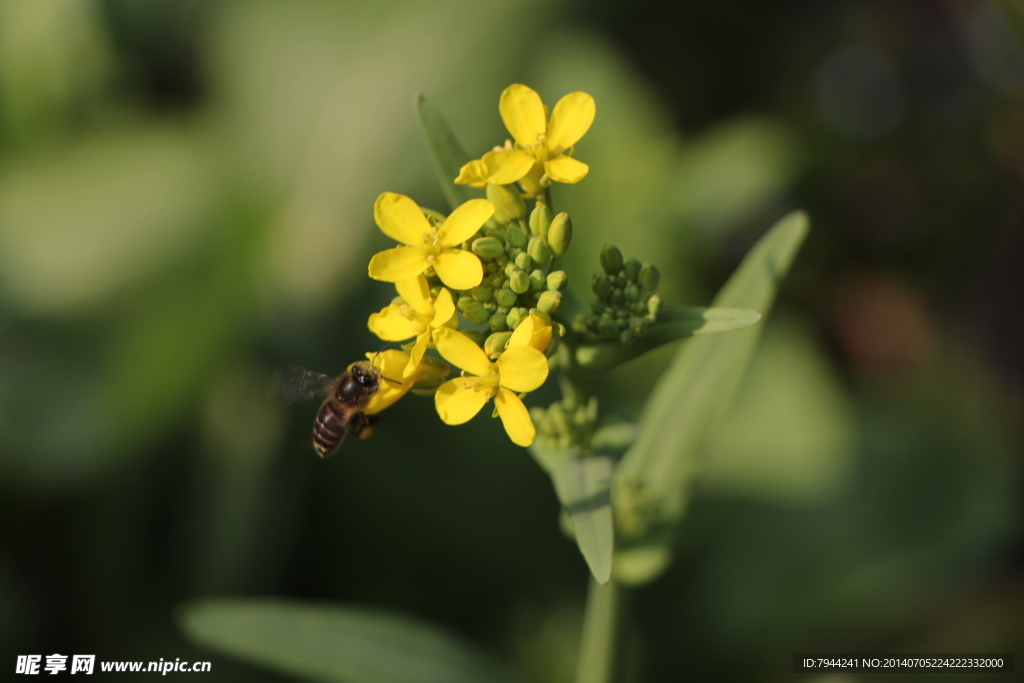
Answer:
[[[657,323],[643,337],[629,344],[583,344],[577,348],[577,362],[591,370],[607,370],[678,339],[739,330],[760,319],[758,311],[742,308],[666,306],[658,313]]]

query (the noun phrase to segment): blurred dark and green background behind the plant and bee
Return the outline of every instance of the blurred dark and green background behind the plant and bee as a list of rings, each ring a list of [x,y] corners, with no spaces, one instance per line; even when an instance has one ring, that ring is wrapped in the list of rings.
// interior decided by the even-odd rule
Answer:
[[[444,206],[414,95],[478,156],[513,82],[597,99],[591,174],[555,197],[581,297],[613,241],[707,304],[775,219],[812,219],[678,558],[631,601],[637,680],[1019,648],[1021,4],[0,0],[3,666],[285,680],[173,621],[272,595],[571,680],[587,567],[497,422],[410,396],[321,462],[316,407],[265,398],[275,368],[379,347],[373,202]],[[595,377],[602,410],[635,418],[672,350]]]

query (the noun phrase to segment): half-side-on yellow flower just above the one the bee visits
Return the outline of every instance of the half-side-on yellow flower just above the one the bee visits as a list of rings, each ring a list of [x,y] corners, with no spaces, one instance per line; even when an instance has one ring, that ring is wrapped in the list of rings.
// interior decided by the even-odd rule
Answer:
[[[404,341],[416,337],[409,365],[401,373],[402,377],[409,377],[420,365],[423,353],[433,341],[434,330],[455,317],[455,301],[452,300],[452,293],[443,287],[434,300],[430,296],[427,279],[423,275],[395,283],[394,288],[398,290],[398,296],[404,303],[391,304],[372,314],[367,327],[384,341]]]

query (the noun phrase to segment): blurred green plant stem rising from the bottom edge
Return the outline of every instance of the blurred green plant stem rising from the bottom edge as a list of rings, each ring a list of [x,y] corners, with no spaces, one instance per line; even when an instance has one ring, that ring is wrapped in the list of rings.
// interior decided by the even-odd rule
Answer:
[[[615,680],[623,597],[623,589],[614,580],[601,586],[590,578],[575,683]]]

